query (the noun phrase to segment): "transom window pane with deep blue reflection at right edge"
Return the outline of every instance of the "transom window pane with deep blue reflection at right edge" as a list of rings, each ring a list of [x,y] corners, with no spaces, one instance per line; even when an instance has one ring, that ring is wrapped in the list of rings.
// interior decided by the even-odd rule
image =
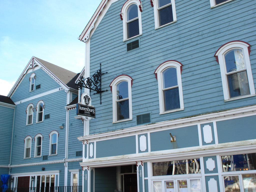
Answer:
[[[223,172],[256,170],[256,153],[221,156]]]

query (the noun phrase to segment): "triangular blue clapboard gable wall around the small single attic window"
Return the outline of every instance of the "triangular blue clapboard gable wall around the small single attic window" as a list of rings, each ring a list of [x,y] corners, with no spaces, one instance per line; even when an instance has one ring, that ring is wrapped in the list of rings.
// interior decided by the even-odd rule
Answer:
[[[34,91],[29,92],[29,78],[32,73],[36,74],[35,88]],[[39,84],[41,84],[41,88],[36,89],[36,86]],[[38,69],[25,75],[24,79],[18,86],[11,99],[13,100],[13,102],[16,102],[59,87],[61,86],[54,79],[52,79],[44,70]]]

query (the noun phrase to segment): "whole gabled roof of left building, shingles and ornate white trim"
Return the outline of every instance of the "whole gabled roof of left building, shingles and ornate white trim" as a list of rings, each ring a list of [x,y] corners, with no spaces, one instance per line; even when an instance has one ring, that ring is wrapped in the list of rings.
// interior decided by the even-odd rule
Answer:
[[[19,76],[13,88],[10,90],[9,94],[7,95],[8,97],[12,97],[13,93],[18,88],[20,82],[25,77],[27,71],[29,69],[34,70],[36,66],[39,66],[42,70],[44,70],[52,79],[54,79],[58,84],[60,84],[60,86],[65,89],[65,91],[68,91],[70,88],[77,90],[77,87],[74,83],[80,73],[74,73],[72,71],[69,71],[67,69],[64,69],[62,67],[59,67],[57,65],[54,65],[52,63],[49,63],[45,60],[33,56],[29,60],[22,74]]]

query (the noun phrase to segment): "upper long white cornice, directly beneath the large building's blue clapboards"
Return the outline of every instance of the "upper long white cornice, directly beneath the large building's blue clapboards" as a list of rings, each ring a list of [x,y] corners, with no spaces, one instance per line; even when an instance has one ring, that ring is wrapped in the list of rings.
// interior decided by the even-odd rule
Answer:
[[[244,114],[252,114],[255,113],[256,110],[256,105],[253,106],[248,106],[244,108],[237,108],[237,109],[231,109],[227,111],[220,111],[216,113],[208,113],[204,115],[198,115],[198,116],[193,116],[193,117],[188,117],[184,119],[177,119],[177,120],[168,120],[168,121],[162,121],[154,124],[148,124],[148,125],[141,125],[141,126],[135,126],[135,127],[130,127],[126,128],[123,130],[117,130],[117,131],[111,131],[111,132],[106,132],[106,133],[99,133],[99,134],[94,134],[94,135],[86,135],[86,136],[81,136],[78,137],[79,141],[84,141],[84,140],[96,140],[96,139],[106,139],[106,137],[114,137],[118,135],[125,135],[125,134],[133,134],[136,132],[143,132],[143,131],[150,131],[154,129],[161,129],[162,127],[167,127],[167,126],[178,126],[178,125],[183,125],[186,123],[193,123],[198,121],[210,121],[210,120],[216,120],[217,118],[223,118],[223,117],[228,117],[228,116],[234,116],[234,115],[244,115]]]

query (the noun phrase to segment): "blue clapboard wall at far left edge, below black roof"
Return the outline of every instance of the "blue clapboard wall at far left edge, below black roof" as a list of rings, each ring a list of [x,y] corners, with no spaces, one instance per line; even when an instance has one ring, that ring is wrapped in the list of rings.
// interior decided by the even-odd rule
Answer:
[[[0,130],[1,130],[0,141],[2,143],[2,147],[0,150],[0,165],[9,165],[10,163],[13,118],[14,118],[13,108],[0,106]]]

